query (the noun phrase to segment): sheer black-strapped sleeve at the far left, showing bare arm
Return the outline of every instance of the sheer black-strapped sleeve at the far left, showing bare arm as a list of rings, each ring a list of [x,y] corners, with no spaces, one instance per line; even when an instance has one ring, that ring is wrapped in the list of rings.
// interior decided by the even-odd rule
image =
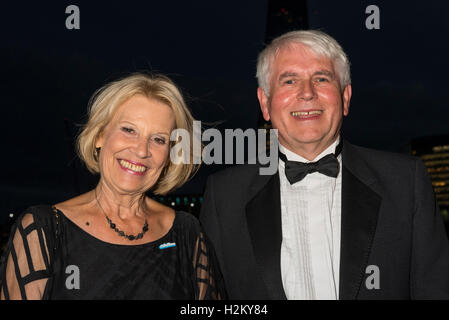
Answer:
[[[50,277],[49,265],[45,232],[33,214],[21,215],[1,258],[0,298],[42,299]]]

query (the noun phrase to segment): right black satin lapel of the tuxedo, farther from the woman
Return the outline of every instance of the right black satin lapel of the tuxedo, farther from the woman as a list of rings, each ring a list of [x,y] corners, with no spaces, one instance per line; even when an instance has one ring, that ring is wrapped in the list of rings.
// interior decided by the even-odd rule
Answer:
[[[362,285],[382,199],[374,174],[346,141],[342,159],[339,298],[345,300],[356,299]]]

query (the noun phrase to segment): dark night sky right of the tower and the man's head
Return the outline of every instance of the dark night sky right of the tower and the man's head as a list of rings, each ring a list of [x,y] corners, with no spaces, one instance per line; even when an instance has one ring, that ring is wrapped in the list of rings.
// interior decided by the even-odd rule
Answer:
[[[309,1],[309,26],[335,37],[351,61],[345,136],[356,144],[407,151],[410,140],[449,133],[449,3]],[[365,8],[380,9],[367,30]]]

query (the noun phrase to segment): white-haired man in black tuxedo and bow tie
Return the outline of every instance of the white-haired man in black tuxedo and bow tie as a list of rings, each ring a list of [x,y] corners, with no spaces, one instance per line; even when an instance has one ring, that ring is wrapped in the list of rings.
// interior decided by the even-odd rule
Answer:
[[[449,246],[422,162],[340,136],[351,100],[340,45],[287,33],[261,52],[257,77],[279,170],[212,175],[200,216],[229,297],[449,298]]]

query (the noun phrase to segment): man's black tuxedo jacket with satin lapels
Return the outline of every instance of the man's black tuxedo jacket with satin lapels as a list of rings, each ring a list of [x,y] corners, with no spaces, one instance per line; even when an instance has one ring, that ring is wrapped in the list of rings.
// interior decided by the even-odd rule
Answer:
[[[342,151],[340,299],[449,299],[449,245],[430,179],[416,158]],[[230,299],[286,299],[279,174],[258,165],[209,177],[200,220]],[[367,285],[378,267],[379,288]]]

